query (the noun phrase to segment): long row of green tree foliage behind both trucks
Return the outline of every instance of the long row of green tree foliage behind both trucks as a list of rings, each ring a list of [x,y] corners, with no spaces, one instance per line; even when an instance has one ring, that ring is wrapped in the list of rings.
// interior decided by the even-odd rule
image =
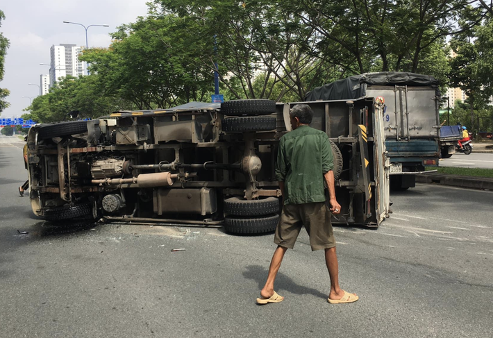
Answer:
[[[87,79],[62,81],[33,101],[32,114],[52,121],[73,109],[96,117],[209,101],[215,71],[226,100],[275,101],[302,101],[313,87],[370,71],[429,74],[442,90],[470,76],[483,85],[469,83],[481,109],[493,71],[492,6],[483,2],[153,0],[108,49],[84,51]],[[451,48],[461,50],[454,62]]]

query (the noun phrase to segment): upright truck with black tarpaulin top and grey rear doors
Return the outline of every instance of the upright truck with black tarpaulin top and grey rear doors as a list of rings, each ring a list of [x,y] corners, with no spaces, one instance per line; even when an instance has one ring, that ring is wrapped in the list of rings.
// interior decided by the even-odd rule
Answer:
[[[415,187],[415,174],[437,166],[440,90],[433,76],[404,72],[366,73],[328,83],[306,94],[306,101],[353,100],[381,96],[390,159],[390,186]],[[366,114],[366,112],[361,112]]]

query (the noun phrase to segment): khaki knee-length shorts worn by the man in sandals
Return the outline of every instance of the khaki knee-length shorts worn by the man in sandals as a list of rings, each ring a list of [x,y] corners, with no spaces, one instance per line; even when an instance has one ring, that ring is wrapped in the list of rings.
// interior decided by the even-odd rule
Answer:
[[[274,243],[283,248],[293,248],[303,225],[310,236],[312,251],[335,246],[331,211],[325,202],[284,205]]]

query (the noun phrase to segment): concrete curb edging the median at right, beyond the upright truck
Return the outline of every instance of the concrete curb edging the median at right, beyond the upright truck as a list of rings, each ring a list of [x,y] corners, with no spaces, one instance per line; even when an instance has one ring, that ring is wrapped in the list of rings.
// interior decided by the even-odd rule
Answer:
[[[493,190],[492,178],[456,176],[446,174],[417,174],[416,182],[428,184],[451,185],[469,189]]]

